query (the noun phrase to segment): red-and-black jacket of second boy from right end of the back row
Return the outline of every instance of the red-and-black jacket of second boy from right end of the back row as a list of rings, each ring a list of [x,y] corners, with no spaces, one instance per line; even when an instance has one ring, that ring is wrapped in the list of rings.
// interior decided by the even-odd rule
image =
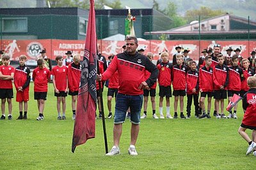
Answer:
[[[229,69],[229,80],[228,90],[240,91],[241,82],[244,80],[243,69],[239,66],[230,66]]]

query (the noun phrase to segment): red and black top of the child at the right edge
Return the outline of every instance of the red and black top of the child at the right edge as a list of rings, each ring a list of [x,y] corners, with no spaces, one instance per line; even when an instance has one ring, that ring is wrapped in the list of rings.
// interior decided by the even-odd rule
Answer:
[[[249,89],[243,96],[244,113],[242,123],[256,127],[256,89]]]

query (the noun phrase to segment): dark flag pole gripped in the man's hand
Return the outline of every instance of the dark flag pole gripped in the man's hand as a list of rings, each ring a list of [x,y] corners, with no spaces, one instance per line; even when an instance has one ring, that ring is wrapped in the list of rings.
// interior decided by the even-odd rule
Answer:
[[[99,68],[99,55],[98,55],[98,48],[97,48],[97,73],[100,74]],[[102,113],[102,126],[103,126],[103,134],[104,134],[104,142],[105,142],[105,152],[108,153],[108,139],[107,139],[107,132],[106,132],[106,124],[105,124],[105,114],[104,114],[104,106],[103,106],[103,98],[102,98],[102,81],[99,81],[99,97],[100,97],[100,107]]]

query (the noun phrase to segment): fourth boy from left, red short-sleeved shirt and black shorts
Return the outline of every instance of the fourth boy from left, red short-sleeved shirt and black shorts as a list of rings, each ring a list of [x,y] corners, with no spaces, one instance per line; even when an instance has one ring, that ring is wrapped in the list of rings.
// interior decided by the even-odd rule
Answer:
[[[63,66],[63,57],[56,57],[57,66],[52,69],[52,83],[54,96],[57,97],[58,120],[66,120],[66,97],[68,91],[67,67]],[[62,103],[62,117],[60,114],[60,103]]]

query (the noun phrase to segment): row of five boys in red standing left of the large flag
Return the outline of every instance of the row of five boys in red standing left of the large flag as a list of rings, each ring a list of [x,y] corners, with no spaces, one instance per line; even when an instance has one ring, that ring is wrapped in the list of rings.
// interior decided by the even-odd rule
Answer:
[[[32,78],[34,81],[34,98],[37,101],[39,115],[36,120],[44,120],[44,106],[47,99],[48,82],[52,74],[52,83],[54,85],[54,96],[57,97],[58,120],[65,120],[67,93],[72,96],[72,113],[73,119],[76,118],[76,100],[79,89],[81,76],[80,56],[75,55],[73,62],[68,67],[63,66],[63,57],[56,57],[57,66],[49,69],[45,67],[44,58],[37,60],[36,69],[33,70]],[[14,68],[9,65],[10,56],[2,56],[3,66],[0,66],[0,98],[1,98],[1,120],[5,119],[5,103],[8,102],[8,119],[12,120],[12,98],[14,81],[17,90],[16,101],[19,102],[20,115],[17,119],[27,119],[28,101],[29,101],[29,83],[31,81],[31,73],[29,67],[25,65],[26,55],[20,55],[19,66]],[[69,89],[69,91],[68,91]],[[62,117],[61,117],[62,103]],[[23,115],[24,108],[24,115]]]

